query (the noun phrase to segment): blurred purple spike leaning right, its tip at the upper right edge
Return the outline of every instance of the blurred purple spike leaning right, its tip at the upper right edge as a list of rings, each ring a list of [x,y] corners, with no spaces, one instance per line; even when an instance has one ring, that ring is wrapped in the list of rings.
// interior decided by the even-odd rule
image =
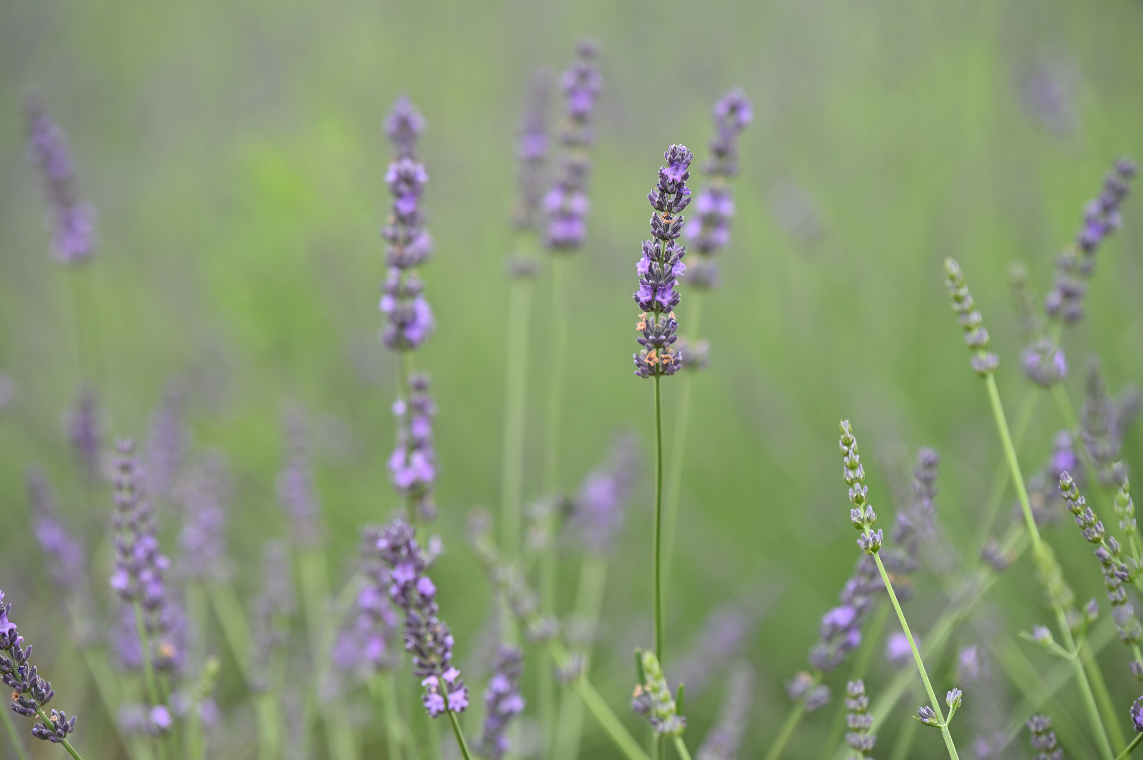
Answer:
[[[1056,259],[1055,287],[1044,302],[1050,317],[1066,323],[1084,318],[1086,281],[1095,270],[1095,255],[1108,235],[1122,225],[1119,207],[1130,192],[1135,171],[1135,162],[1130,159],[1121,158],[1116,161],[1103,178],[1100,197],[1084,209],[1084,225],[1076,235],[1076,241]]]

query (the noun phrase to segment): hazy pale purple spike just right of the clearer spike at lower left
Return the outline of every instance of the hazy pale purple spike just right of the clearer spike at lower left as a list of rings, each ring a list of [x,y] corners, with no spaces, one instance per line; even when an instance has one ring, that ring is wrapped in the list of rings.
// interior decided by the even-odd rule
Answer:
[[[227,490],[226,462],[218,453],[208,454],[197,463],[178,489],[183,505],[183,529],[178,537],[183,576],[225,581]]]

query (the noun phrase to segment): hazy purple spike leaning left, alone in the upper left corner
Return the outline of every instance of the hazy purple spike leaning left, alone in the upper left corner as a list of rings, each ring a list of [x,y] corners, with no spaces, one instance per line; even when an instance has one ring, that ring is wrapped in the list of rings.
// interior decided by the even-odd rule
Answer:
[[[79,198],[67,137],[35,98],[27,105],[29,153],[43,175],[48,205],[55,217],[51,250],[65,264],[77,264],[95,253],[95,208]]]

